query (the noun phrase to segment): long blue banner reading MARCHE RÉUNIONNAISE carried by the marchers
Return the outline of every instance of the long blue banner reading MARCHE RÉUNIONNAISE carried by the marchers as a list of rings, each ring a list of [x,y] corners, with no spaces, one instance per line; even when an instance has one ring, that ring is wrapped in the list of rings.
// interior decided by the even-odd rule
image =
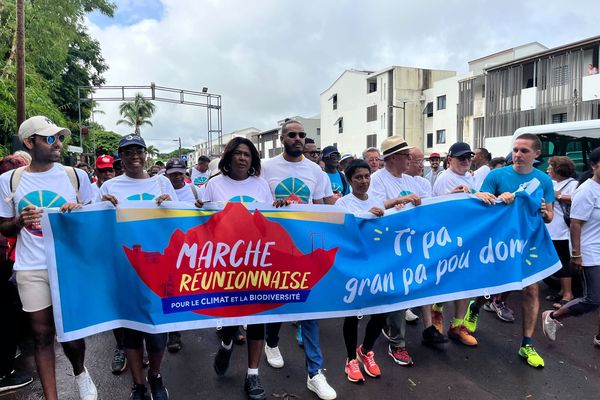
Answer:
[[[43,219],[59,340],[383,313],[518,290],[560,268],[526,191],[380,218],[334,206],[108,203]]]

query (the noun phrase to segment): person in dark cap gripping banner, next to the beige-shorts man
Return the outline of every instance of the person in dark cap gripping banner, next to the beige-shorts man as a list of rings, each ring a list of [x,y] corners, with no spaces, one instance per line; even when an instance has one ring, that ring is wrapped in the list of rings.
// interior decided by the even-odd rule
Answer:
[[[119,142],[119,156],[125,173],[104,182],[100,188],[102,201],[110,201],[115,206],[126,200],[154,200],[158,205],[164,201],[178,200],[171,181],[164,175],[151,177],[144,170],[146,162],[146,142],[139,135],[124,136]],[[130,399],[147,400],[146,377],[143,369],[144,342],[150,367],[148,383],[151,397],[154,400],[167,400],[169,393],[162,380],[160,367],[165,348],[167,334],[151,334],[125,329],[123,337],[125,354],[133,378]]]

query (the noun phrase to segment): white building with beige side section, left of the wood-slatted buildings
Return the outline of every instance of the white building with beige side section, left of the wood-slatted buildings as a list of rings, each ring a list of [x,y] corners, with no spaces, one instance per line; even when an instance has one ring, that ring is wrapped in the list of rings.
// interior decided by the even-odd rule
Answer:
[[[399,135],[423,144],[424,90],[454,71],[392,66],[381,71],[346,70],[320,96],[321,145],[362,154]]]

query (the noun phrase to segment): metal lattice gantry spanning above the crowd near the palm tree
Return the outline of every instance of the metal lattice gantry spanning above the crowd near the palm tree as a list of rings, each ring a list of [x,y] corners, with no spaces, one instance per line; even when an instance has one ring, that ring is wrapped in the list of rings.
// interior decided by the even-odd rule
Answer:
[[[85,91],[86,97],[81,93]],[[106,94],[108,91],[117,92],[118,95]],[[77,87],[77,108],[79,114],[79,143],[83,147],[82,139],[82,121],[81,104],[103,101],[131,101],[137,93],[141,93],[144,99],[160,101],[163,103],[184,104],[193,107],[206,108],[207,122],[207,141],[212,155],[213,135],[217,135],[217,144],[219,147],[223,144],[223,118],[221,95],[208,93],[208,88],[202,88],[202,91],[193,91],[185,89],[176,89],[165,86],[156,86],[152,82],[149,86],[79,86]],[[100,94],[100,96],[98,96]],[[216,114],[216,115],[215,115]]]

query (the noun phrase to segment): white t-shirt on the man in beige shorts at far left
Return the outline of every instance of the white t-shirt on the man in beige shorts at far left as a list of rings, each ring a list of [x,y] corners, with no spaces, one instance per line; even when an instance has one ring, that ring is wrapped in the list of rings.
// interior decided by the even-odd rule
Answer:
[[[79,197],[83,204],[92,203],[95,199],[92,184],[88,175],[75,168],[79,177]],[[45,172],[23,172],[19,186],[15,192],[14,204],[6,202],[10,194],[10,177],[13,171],[0,176],[0,217],[14,218],[28,205],[40,208],[59,208],[65,203],[76,203],[77,193],[69,176],[61,164],[55,163]],[[44,237],[39,227],[26,226],[19,231],[15,249],[15,271],[47,269]]]

